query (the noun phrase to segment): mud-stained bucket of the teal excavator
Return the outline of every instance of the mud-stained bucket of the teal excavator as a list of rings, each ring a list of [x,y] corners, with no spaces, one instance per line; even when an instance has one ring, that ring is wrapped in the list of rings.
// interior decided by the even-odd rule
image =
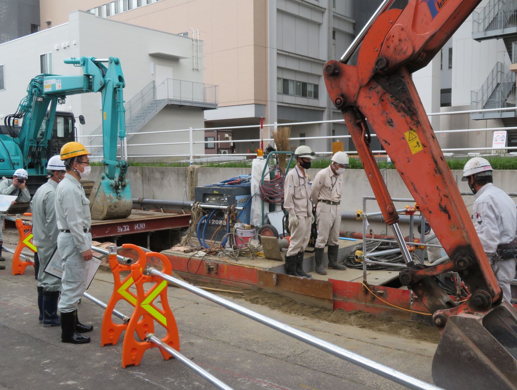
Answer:
[[[113,180],[99,180],[94,184],[89,196],[90,213],[97,221],[126,218],[131,214],[133,200],[129,184],[117,194],[110,183]]]

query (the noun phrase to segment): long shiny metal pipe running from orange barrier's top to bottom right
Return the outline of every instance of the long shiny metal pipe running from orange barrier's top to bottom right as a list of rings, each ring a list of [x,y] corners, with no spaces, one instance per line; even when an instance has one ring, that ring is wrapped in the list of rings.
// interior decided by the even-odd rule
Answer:
[[[295,329],[292,326],[273,320],[272,318],[266,317],[262,314],[258,314],[253,310],[247,309],[246,307],[237,305],[236,303],[228,301],[224,298],[220,298],[217,295],[211,294],[200,288],[192,286],[190,283],[187,283],[184,280],[180,280],[170,275],[164,274],[163,272],[160,272],[155,268],[149,268],[147,272],[151,275],[158,276],[176,286],[184,288],[185,290],[193,292],[194,294],[199,295],[200,297],[205,298],[210,302],[217,303],[218,305],[235,311],[236,313],[241,314],[249,319],[260,322],[263,325],[269,326],[272,329],[275,329],[288,336],[294,337],[297,340],[305,342],[308,345],[321,349],[322,351],[328,352],[331,355],[337,356],[349,363],[353,363],[368,371],[374,372],[377,375],[380,375],[393,382],[406,386],[407,388],[414,390],[440,390],[440,387],[437,387],[433,384],[423,382],[396,369],[377,363],[357,353],[333,345],[328,341],[322,340],[321,338],[317,338],[308,333],[299,331],[298,329]]]

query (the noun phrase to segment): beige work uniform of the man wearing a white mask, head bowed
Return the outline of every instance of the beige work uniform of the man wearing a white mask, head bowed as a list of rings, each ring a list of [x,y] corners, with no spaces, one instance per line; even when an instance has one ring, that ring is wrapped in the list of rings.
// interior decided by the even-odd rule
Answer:
[[[316,248],[324,248],[327,240],[329,245],[339,244],[342,191],[343,175],[334,174],[330,165],[316,174],[312,182],[312,201],[316,205],[318,227]]]

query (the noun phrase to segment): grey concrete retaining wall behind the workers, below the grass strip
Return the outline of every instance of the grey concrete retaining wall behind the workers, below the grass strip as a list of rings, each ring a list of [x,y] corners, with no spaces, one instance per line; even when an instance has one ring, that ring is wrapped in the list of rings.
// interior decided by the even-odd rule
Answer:
[[[309,169],[311,178],[316,176],[319,169]],[[102,167],[92,167],[92,180],[98,180]],[[211,184],[238,175],[250,175],[251,168],[204,168],[197,171],[198,185]],[[460,191],[470,191],[467,183],[461,181],[462,171],[453,170],[452,174],[459,184]],[[356,212],[362,209],[362,197],[373,196],[370,183],[362,169],[347,169],[344,173],[345,187],[343,189],[342,211]],[[187,196],[187,168],[185,167],[129,167],[128,179],[131,183],[133,198],[149,198],[163,200],[189,200]],[[394,169],[383,171],[383,177],[393,198],[411,198],[399,173]],[[424,183],[422,183],[424,184]],[[496,170],[494,184],[506,192],[517,192],[517,171]],[[474,196],[464,196],[469,212],[472,211]],[[517,200],[517,198],[513,198]],[[408,202],[396,202],[397,208],[403,208]],[[413,206],[413,205],[410,205]],[[368,200],[367,211],[378,211],[374,200]],[[372,222],[369,229],[381,234],[392,232],[386,224]],[[407,227],[406,227],[407,229]],[[362,223],[343,220],[341,230],[362,231]]]

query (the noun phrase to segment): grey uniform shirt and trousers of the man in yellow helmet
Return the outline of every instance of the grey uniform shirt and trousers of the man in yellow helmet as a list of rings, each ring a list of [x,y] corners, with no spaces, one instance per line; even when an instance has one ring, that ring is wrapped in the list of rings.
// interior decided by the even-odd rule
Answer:
[[[89,262],[83,260],[82,253],[92,247],[89,203],[81,183],[66,174],[57,185],[55,200],[57,228],[60,230],[57,249],[63,259],[62,293],[58,306],[61,313],[77,309],[78,301],[86,289]]]

